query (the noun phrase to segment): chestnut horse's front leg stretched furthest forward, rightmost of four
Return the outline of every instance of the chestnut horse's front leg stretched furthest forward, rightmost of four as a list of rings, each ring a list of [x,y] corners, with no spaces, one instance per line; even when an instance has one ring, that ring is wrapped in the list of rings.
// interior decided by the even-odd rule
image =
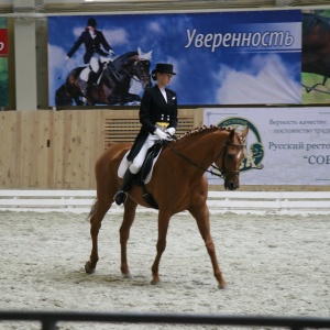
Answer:
[[[209,208],[206,204],[204,204],[202,206],[199,205],[199,206],[191,207],[189,209],[189,212],[197,221],[199,232],[201,234],[201,238],[205,241],[205,245],[206,245],[209,256],[211,258],[211,263],[213,266],[213,274],[218,280],[219,288],[224,288],[226,280],[222,277],[222,273],[221,273],[219,264],[218,264],[216,246],[215,246],[215,243],[213,243],[213,240],[211,237],[211,232],[210,232]]]

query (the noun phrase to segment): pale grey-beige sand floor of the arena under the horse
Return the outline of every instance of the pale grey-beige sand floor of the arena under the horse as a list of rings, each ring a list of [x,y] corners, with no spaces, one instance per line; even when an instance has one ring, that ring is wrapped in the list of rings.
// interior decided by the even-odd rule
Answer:
[[[207,250],[188,213],[173,217],[153,286],[157,220],[136,215],[129,241],[132,279],[120,273],[122,215],[108,213],[100,261],[87,275],[86,213],[0,212],[3,310],[184,312],[330,317],[329,216],[212,215],[211,232],[228,288],[218,289]],[[238,327],[61,322],[59,329],[240,329]],[[0,329],[41,329],[0,322]],[[249,327],[241,329],[252,329]],[[267,328],[258,328],[267,329]]]

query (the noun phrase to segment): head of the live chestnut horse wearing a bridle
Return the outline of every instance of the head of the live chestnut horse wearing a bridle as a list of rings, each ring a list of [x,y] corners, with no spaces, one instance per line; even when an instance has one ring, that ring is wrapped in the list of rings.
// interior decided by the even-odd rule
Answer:
[[[244,158],[245,138],[249,128],[241,133],[231,130],[224,144],[222,157],[219,157],[217,166],[221,169],[224,177],[224,188],[235,190],[240,187],[240,165]]]

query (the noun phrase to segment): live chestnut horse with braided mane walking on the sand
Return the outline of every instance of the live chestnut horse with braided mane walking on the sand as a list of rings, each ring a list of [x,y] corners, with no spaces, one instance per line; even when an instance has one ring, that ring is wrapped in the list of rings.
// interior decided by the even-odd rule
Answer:
[[[240,187],[240,165],[244,157],[245,138],[249,128],[241,133],[224,128],[199,128],[186,133],[177,141],[167,142],[155,166],[147,191],[158,205],[157,253],[152,265],[152,284],[160,283],[160,261],[166,246],[166,234],[170,217],[188,210],[196,219],[213,266],[219,287],[222,277],[210,233],[209,209],[207,206],[208,183],[205,172],[215,163],[219,176],[224,178],[224,187],[234,190]],[[91,207],[90,234],[92,249],[86,263],[87,273],[94,273],[98,256],[98,233],[101,221],[113,202],[113,196],[121,185],[118,167],[131,147],[128,143],[110,143],[109,148],[96,163],[97,199]],[[213,172],[212,172],[213,173]],[[150,207],[143,199],[142,188],[133,185],[124,204],[123,221],[120,228],[121,272],[130,277],[127,243],[134,221],[136,206]]]

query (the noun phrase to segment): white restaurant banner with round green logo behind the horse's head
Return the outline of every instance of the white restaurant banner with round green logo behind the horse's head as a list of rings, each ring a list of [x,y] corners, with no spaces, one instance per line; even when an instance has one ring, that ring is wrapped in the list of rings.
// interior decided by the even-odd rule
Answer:
[[[241,185],[330,184],[330,108],[205,109],[204,123],[249,127]]]

